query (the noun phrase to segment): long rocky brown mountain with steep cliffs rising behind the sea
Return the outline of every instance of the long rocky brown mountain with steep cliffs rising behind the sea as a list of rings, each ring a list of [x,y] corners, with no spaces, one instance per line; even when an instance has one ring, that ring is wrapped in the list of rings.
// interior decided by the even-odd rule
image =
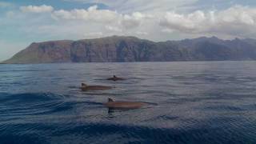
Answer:
[[[32,43],[3,63],[256,60],[256,40],[194,38],[152,42],[112,36]]]

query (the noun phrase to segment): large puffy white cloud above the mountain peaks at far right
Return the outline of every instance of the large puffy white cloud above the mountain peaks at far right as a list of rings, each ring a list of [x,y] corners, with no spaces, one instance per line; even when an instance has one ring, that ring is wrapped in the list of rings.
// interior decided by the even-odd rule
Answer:
[[[216,34],[247,37],[256,32],[256,9],[246,6],[232,6],[226,10],[191,14],[166,12],[160,26],[169,31],[185,34]],[[256,35],[254,35],[255,37]]]

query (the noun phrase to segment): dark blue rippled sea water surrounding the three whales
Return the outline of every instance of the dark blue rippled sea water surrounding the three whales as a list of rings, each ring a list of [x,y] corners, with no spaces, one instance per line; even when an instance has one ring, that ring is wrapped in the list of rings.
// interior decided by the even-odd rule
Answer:
[[[0,143],[256,143],[256,62],[0,65]]]

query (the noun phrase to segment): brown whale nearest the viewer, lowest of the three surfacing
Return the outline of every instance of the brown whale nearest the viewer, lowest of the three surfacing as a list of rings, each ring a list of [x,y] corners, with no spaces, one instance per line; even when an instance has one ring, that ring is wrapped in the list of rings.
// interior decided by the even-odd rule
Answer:
[[[114,101],[113,99],[109,98],[108,102],[104,104],[109,109],[139,109],[142,106],[145,106],[146,103],[144,102],[123,102],[123,101]]]

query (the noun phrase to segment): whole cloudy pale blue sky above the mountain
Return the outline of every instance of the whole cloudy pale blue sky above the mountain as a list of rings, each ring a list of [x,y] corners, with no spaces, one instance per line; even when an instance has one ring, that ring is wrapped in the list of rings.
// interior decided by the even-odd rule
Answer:
[[[0,0],[0,61],[32,42],[256,38],[255,0]]]

